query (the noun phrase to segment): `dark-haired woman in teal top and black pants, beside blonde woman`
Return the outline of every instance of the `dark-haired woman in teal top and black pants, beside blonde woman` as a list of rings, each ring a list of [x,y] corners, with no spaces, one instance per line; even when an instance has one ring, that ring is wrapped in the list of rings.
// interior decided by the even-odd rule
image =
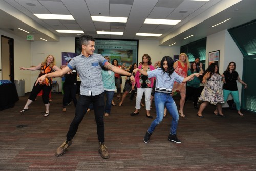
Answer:
[[[199,66],[199,68],[200,68],[200,71],[197,68],[196,62],[191,63],[190,70],[187,71],[187,76],[192,75],[193,73],[203,74],[204,71],[202,69],[202,65],[201,67]],[[198,101],[198,97],[200,96],[200,79],[196,76],[194,76],[189,81],[187,81],[185,103],[191,96],[193,96],[194,108],[198,109],[197,101]]]

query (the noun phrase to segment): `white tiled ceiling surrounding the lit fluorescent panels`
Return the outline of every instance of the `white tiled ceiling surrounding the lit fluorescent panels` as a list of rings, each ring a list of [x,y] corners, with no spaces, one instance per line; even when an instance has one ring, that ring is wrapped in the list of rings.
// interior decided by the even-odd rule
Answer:
[[[207,35],[256,19],[256,0],[0,0],[0,29],[24,37],[29,31],[35,41],[58,41],[79,37],[55,30],[83,30],[94,38],[158,40],[159,45],[182,46]],[[68,14],[75,20],[38,19],[33,13]],[[128,17],[127,23],[93,22],[91,15]],[[177,19],[177,25],[143,24],[146,18]],[[215,24],[231,18],[227,22]],[[124,32],[98,35],[96,31]],[[163,34],[160,37],[136,33]],[[193,37],[185,37],[194,35]]]

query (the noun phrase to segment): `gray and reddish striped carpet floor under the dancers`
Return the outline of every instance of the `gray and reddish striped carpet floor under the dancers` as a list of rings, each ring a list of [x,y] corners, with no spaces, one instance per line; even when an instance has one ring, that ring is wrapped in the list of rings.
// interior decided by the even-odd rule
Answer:
[[[0,170],[256,170],[255,113],[242,111],[245,116],[241,117],[236,110],[223,109],[223,118],[214,115],[215,107],[209,105],[200,118],[188,101],[186,117],[180,117],[177,130],[182,143],[168,141],[170,115],[144,143],[143,136],[153,119],[145,116],[145,108],[130,116],[135,101],[126,98],[119,107],[115,98],[117,106],[104,117],[110,158],[102,159],[98,153],[93,111],[86,113],[68,151],[56,157],[74,117],[74,105],[62,112],[63,96],[52,94],[49,117],[43,117],[41,97],[20,114],[28,96],[19,97],[13,108],[0,111]],[[179,98],[174,97],[176,104]],[[152,107],[155,118],[154,104]]]

